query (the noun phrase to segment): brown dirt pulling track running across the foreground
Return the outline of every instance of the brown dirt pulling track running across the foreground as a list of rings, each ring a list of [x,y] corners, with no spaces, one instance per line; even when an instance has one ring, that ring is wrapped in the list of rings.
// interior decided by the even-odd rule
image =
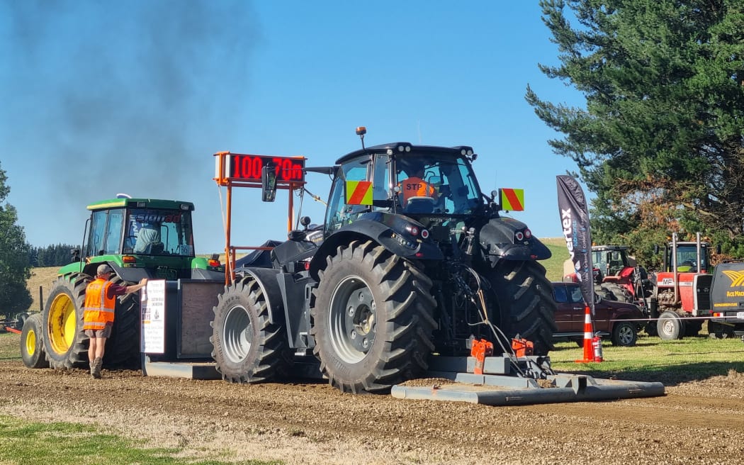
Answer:
[[[8,336],[4,336],[8,337]],[[17,337],[17,336],[16,336]],[[341,394],[323,382],[231,385],[0,360],[4,413],[95,423],[184,458],[286,464],[740,464],[744,373],[664,397],[493,407]]]

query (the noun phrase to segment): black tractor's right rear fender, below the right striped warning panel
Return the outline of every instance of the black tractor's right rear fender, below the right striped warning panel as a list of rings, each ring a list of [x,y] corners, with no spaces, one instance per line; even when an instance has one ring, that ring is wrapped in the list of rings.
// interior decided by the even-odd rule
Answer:
[[[551,251],[536,237],[516,239],[516,234],[525,231],[527,225],[513,218],[491,218],[478,233],[478,242],[493,265],[504,260],[545,260]]]

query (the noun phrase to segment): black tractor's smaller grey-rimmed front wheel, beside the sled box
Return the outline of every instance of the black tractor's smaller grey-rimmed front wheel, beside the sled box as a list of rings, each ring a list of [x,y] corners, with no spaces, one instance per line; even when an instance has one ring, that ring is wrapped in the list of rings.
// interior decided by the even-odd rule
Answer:
[[[286,372],[286,330],[269,320],[266,296],[254,278],[225,286],[211,325],[212,357],[225,381],[269,381]]]

